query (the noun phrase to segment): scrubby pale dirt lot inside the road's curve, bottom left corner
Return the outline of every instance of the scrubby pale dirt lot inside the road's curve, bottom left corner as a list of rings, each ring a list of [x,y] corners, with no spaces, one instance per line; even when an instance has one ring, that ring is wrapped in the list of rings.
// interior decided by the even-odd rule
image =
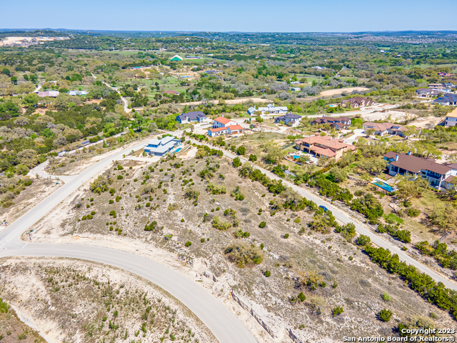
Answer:
[[[136,337],[141,337],[138,342],[171,342],[174,337],[177,342],[217,342],[181,302],[129,272],[71,259],[0,263],[4,301],[48,343],[136,342]],[[12,331],[11,319],[5,320],[0,316],[2,327]],[[13,340],[5,342],[17,342],[17,332],[21,328],[16,325]]]

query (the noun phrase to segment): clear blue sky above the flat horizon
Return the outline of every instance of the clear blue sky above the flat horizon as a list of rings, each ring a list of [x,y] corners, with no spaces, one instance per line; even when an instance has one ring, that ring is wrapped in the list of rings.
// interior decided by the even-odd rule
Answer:
[[[457,31],[456,0],[21,0],[1,8],[1,29]]]

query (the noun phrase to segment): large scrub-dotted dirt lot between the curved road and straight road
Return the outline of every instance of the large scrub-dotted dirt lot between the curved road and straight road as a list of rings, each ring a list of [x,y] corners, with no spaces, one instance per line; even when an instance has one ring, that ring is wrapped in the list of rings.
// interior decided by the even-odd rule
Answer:
[[[114,179],[109,186],[114,189],[112,196],[109,192],[74,194],[34,227],[33,239],[104,245],[166,264],[200,280],[243,320],[259,342],[290,342],[289,332],[302,342],[386,336],[398,321],[416,317],[432,326],[455,324],[447,312],[424,302],[341,235],[309,230],[312,212],[280,211],[272,216],[269,202],[276,197],[258,182],[238,177],[230,161],[178,162],[124,161],[121,170],[110,168],[106,176]],[[213,177],[201,179],[199,175],[207,167]],[[214,194],[214,189],[223,186],[226,193]],[[236,187],[243,200],[231,197]],[[185,194],[196,195],[198,201],[186,199]],[[95,212],[93,218],[86,219],[91,212]],[[216,216],[226,229],[215,227]],[[266,222],[266,227],[261,229],[260,222]],[[145,230],[146,225],[151,231]],[[236,238],[240,235],[243,238]],[[186,242],[191,245],[186,247]],[[263,262],[238,267],[224,253],[233,244],[259,252]],[[265,276],[267,270],[271,277]],[[318,286],[306,285],[304,280],[310,277],[318,280]],[[306,299],[297,302],[301,292]],[[384,301],[383,292],[392,300]],[[262,326],[237,303],[255,312]],[[344,312],[332,317],[336,306]],[[391,322],[376,319],[376,313],[385,307],[393,312]],[[431,312],[436,319],[428,317]]]

